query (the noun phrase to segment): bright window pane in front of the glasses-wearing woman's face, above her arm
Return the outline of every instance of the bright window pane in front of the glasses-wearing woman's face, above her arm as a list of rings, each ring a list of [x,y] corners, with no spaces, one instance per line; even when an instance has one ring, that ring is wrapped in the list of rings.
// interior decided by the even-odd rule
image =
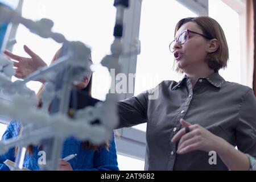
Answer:
[[[182,13],[181,13],[182,12]],[[141,55],[138,56],[135,95],[154,88],[163,80],[179,80],[173,71],[174,57],[169,44],[174,39],[176,23],[185,17],[197,16],[177,1],[143,1],[141,13]],[[135,126],[146,131],[146,124]]]

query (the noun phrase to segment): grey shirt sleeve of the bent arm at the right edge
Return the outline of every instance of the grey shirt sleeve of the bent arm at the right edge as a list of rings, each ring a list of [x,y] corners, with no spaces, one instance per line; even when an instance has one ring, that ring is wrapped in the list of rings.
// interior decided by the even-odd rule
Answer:
[[[238,150],[256,157],[256,99],[252,89],[243,96],[236,125]]]

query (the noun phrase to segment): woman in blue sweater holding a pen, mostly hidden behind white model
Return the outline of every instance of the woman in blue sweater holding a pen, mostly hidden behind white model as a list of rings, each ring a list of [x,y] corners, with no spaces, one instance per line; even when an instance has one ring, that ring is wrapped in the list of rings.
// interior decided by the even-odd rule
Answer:
[[[40,59],[34,52],[32,52],[28,47],[24,47],[25,51],[28,55],[31,56],[31,59]],[[57,60],[60,55],[61,49],[56,53],[53,57],[53,61]],[[19,57],[15,55],[9,56],[18,61],[29,61],[24,57]],[[44,66],[44,65],[42,65]],[[16,74],[20,74],[16,71]],[[39,80],[43,82],[43,80]],[[86,77],[82,82],[76,84],[76,89],[79,93],[86,92],[91,93],[92,89],[92,77]],[[39,90],[38,96],[40,97],[40,92],[42,92],[42,88]],[[40,104],[40,103],[39,103]],[[70,115],[70,113],[69,113]],[[7,126],[5,133],[2,136],[2,140],[7,140],[10,138],[18,137],[20,135],[21,126],[18,121],[11,121]],[[0,170],[9,170],[9,168],[3,164],[6,159],[15,161],[15,151],[16,148],[11,148],[6,154],[0,155]],[[26,156],[24,159],[23,166],[32,170],[40,170],[38,160],[40,158],[40,147],[28,146]],[[117,163],[117,151],[115,148],[114,134],[112,140],[106,141],[102,146],[94,146],[89,142],[81,142],[71,137],[65,140],[63,144],[63,151],[61,154],[61,158],[65,158],[68,155],[77,154],[76,158],[65,162],[60,159],[59,170],[64,171],[72,171],[72,170],[119,170]]]

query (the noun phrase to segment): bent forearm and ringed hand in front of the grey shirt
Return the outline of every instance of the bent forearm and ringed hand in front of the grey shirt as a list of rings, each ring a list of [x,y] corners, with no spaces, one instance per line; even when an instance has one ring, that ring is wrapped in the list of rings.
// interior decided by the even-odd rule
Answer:
[[[189,127],[190,131],[185,133],[185,128],[181,129],[172,138],[172,142],[180,140],[177,154],[186,154],[195,150],[215,151],[230,170],[249,169],[250,162],[248,156],[236,150],[226,140],[210,133],[210,131],[199,125],[191,125],[191,123],[184,121],[184,119],[180,119],[180,123],[183,127]]]

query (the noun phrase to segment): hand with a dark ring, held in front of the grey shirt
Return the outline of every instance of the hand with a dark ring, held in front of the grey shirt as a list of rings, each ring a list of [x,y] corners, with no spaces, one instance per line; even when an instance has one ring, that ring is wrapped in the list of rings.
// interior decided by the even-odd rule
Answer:
[[[185,133],[185,128],[181,129],[172,138],[172,142],[180,140],[177,154],[186,154],[195,150],[218,152],[218,148],[223,144],[223,140],[220,137],[199,125],[191,125],[191,123],[186,122],[184,119],[180,119],[180,123],[184,127],[189,127],[190,131]]]

